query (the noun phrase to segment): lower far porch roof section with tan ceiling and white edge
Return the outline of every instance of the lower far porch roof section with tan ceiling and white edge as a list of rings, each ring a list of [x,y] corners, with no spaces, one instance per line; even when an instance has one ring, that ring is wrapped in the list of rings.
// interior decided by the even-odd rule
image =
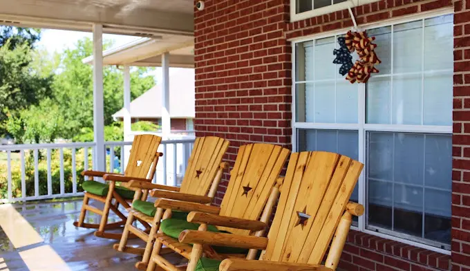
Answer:
[[[171,67],[193,68],[194,45],[192,37],[164,35],[161,39],[142,38],[124,46],[103,52],[104,65],[162,66],[162,53],[170,52]],[[93,64],[93,56],[83,59]]]

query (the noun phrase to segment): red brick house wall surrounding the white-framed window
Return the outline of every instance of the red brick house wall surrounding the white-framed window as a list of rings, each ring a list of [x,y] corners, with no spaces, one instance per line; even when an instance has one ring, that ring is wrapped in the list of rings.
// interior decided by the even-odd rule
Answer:
[[[292,48],[287,39],[353,26],[348,10],[290,23],[288,0],[207,0],[194,12],[196,136],[291,147]],[[454,7],[452,255],[352,230],[341,270],[470,271],[470,0],[382,0],[353,8],[358,24]],[[469,123],[467,123],[469,122]],[[227,180],[225,176],[225,180]],[[218,190],[220,204],[226,182]]]

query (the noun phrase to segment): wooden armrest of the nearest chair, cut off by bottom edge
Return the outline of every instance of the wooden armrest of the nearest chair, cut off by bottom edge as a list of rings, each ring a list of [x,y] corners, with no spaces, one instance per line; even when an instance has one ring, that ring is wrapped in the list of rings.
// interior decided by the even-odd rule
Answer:
[[[245,259],[225,259],[220,263],[220,271],[333,271],[323,265],[308,263],[283,263],[279,261],[256,261]]]

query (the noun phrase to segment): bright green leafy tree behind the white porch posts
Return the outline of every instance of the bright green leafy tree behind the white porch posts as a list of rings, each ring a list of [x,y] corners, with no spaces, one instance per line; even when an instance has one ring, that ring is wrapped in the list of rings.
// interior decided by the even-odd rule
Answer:
[[[104,48],[111,47],[105,41]],[[62,53],[59,73],[53,84],[55,99],[64,114],[65,124],[62,136],[76,138],[86,129],[93,129],[93,69],[83,64],[82,59],[93,54],[93,41],[88,38],[77,42],[75,48]],[[133,68],[131,71],[131,98],[135,99],[149,90],[154,84],[153,76],[147,75],[149,68]],[[113,123],[112,114],[122,108],[123,76],[115,66],[103,69],[104,85],[104,124]]]

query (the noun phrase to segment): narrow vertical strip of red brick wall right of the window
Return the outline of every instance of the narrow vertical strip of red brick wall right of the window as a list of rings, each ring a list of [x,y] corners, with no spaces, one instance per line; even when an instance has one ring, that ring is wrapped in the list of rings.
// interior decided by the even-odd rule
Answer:
[[[470,270],[470,0],[454,1],[452,262]]]

